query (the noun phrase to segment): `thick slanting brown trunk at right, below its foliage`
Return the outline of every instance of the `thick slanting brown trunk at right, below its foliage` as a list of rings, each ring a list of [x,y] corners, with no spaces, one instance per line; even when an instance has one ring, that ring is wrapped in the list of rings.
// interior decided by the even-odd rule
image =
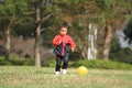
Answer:
[[[107,34],[105,38],[105,45],[103,45],[103,59],[108,61],[109,59],[109,53],[110,53],[110,47],[111,47],[111,42],[112,42],[112,36],[113,36],[113,29],[110,25],[110,23],[107,23]]]

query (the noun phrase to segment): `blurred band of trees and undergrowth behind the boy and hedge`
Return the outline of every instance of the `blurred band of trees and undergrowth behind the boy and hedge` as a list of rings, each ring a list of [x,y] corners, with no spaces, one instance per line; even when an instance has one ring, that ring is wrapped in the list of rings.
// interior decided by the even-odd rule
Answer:
[[[52,38],[62,23],[69,25],[68,34],[77,46],[70,58],[87,58],[91,23],[98,29],[96,59],[131,64],[132,50],[122,48],[114,36],[117,30],[124,31],[131,44],[131,0],[1,0],[0,55],[6,58],[1,57],[1,65],[31,62],[30,65],[43,66],[43,61],[55,58]]]

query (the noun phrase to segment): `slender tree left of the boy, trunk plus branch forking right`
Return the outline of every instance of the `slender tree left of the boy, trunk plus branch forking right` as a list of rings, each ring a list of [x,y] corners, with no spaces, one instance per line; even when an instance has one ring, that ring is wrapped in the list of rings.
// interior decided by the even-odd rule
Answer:
[[[47,4],[51,4],[50,0],[45,0],[44,2],[42,0],[36,0],[35,2],[36,30],[35,30],[34,56],[35,56],[35,66],[37,67],[41,66],[41,54],[40,54],[40,36],[42,31],[41,25],[42,22],[46,21],[52,15],[52,13],[48,13],[50,11],[47,11],[47,7],[48,7]],[[44,13],[41,12],[41,9],[44,10]]]

